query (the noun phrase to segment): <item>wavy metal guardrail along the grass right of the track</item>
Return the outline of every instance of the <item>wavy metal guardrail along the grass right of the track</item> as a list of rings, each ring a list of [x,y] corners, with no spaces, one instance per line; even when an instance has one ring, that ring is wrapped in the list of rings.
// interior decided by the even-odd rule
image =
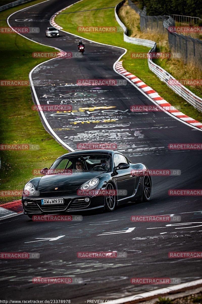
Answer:
[[[124,26],[124,24],[121,22],[121,20],[118,17],[118,9],[124,4],[125,0],[121,1],[118,5],[115,7],[115,18],[118,22],[118,24],[124,29],[124,41],[128,43],[143,45],[145,47],[151,47],[148,53],[155,52],[156,51],[156,43],[152,40],[146,40],[146,39],[138,39],[138,38],[132,38],[127,36],[127,27]],[[161,81],[164,81],[169,88],[171,88],[175,93],[183,97],[187,102],[189,102],[191,105],[193,105],[194,108],[196,108],[198,111],[202,112],[202,99],[195,95],[193,92],[188,90],[184,87],[184,85],[171,85],[169,84],[169,80],[176,81],[177,80],[169,74],[167,71],[165,71],[162,67],[155,64],[151,58],[148,58],[148,66],[149,69],[158,76],[158,78],[161,79]]]

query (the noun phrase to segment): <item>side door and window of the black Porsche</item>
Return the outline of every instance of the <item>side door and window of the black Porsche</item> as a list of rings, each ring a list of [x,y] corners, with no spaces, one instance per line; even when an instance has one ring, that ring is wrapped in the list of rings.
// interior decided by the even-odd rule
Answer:
[[[129,164],[129,161],[122,154],[119,153],[114,154],[114,167],[118,166],[118,164],[120,163]],[[118,183],[118,200],[132,196],[134,193],[136,177],[132,176],[131,168],[129,167],[127,169],[118,169],[116,170],[116,172],[117,172],[117,183]],[[126,190],[127,195],[122,195],[120,190]]]

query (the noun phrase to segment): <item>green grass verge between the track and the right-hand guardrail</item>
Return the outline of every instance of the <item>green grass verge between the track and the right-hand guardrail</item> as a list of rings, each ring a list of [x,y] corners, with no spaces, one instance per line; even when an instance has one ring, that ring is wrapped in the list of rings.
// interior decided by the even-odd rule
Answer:
[[[118,0],[112,0],[110,6],[118,4]],[[109,7],[107,0],[91,1],[83,0],[75,5],[72,5],[64,12],[75,12],[90,9],[100,9],[103,7]],[[147,85],[156,90],[161,97],[167,102],[170,102],[173,106],[180,106],[181,111],[193,117],[194,119],[202,122],[202,113],[193,108],[188,102],[186,102],[179,95],[175,94],[170,88],[167,87],[160,79],[152,73],[145,59],[132,59],[131,53],[133,52],[148,52],[148,47],[142,47],[135,44],[126,43],[123,41],[123,33],[105,33],[105,32],[78,32],[78,26],[119,26],[114,16],[114,8],[94,10],[87,12],[76,12],[71,14],[58,14],[55,18],[55,22],[62,26],[64,30],[76,34],[78,36],[88,38],[97,42],[111,44],[114,46],[124,47],[127,49],[127,53],[122,57],[124,68],[135,74],[142,79]]]

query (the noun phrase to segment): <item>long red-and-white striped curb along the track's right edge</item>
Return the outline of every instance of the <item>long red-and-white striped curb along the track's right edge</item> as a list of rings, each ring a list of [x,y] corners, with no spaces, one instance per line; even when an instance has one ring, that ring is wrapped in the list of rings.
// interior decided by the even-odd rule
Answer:
[[[137,86],[141,91],[143,91],[146,95],[148,95],[154,102],[156,102],[161,107],[166,107],[167,112],[171,113],[175,117],[183,120],[186,123],[189,123],[190,125],[197,127],[199,129],[202,128],[202,123],[199,121],[185,115],[184,113],[178,111],[175,109],[169,102],[167,102],[164,98],[162,98],[156,91],[154,91],[151,87],[146,85],[141,79],[139,79],[137,76],[131,74],[127,70],[123,68],[122,60],[117,62],[115,64],[115,69],[118,71],[118,73],[124,75],[126,78],[130,79],[135,86]],[[170,108],[170,109],[169,109]]]

